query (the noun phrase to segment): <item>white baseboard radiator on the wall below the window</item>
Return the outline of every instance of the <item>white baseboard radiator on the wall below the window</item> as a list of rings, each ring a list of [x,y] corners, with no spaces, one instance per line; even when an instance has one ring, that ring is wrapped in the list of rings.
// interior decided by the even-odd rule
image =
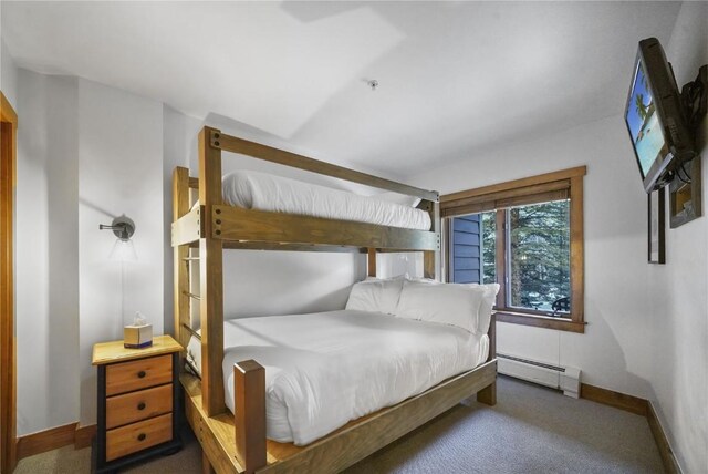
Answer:
[[[497,371],[504,375],[563,391],[563,394],[580,396],[580,369],[559,367],[546,362],[497,353]]]

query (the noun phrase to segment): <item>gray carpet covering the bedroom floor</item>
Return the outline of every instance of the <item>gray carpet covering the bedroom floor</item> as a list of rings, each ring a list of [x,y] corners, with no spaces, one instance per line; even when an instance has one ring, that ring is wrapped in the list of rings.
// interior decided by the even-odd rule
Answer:
[[[645,418],[503,377],[498,385],[496,406],[458,405],[346,473],[664,472]],[[90,455],[63,447],[15,473],[87,473]],[[201,452],[188,434],[178,454],[125,472],[200,473]]]

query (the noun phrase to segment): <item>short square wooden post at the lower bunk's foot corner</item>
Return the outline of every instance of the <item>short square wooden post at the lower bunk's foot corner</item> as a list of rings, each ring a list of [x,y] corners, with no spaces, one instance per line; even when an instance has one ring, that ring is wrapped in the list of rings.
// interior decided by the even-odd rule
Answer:
[[[238,362],[233,384],[236,458],[251,474],[267,463],[266,369],[254,360]]]

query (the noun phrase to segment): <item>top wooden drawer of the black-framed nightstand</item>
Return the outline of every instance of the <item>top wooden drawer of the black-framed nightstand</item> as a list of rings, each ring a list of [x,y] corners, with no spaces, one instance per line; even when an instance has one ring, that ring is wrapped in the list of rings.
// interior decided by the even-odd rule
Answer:
[[[106,395],[162,385],[173,380],[171,356],[138,359],[106,367]]]

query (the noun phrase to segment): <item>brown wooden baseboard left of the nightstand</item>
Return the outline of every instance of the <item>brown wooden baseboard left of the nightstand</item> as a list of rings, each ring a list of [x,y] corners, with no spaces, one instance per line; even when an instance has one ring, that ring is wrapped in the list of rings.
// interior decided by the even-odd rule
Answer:
[[[41,454],[46,451],[74,445],[75,450],[91,446],[91,441],[96,434],[96,425],[79,426],[77,422],[63,426],[52,427],[38,433],[28,434],[18,439],[18,460]]]

